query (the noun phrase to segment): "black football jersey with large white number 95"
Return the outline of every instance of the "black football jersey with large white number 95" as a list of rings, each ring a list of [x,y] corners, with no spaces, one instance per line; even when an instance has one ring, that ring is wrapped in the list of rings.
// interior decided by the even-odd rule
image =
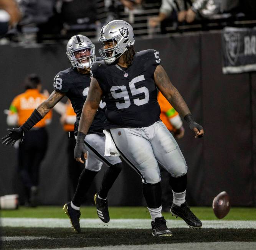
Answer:
[[[95,62],[91,74],[105,96],[105,128],[148,127],[160,120],[154,72],[160,64],[159,52],[137,52],[128,68]]]

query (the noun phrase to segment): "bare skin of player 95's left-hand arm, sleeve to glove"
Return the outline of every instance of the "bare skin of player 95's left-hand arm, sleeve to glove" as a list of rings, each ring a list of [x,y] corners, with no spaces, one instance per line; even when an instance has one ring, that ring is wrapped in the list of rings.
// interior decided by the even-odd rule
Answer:
[[[89,127],[94,119],[94,116],[99,108],[99,103],[102,99],[102,89],[99,86],[96,78],[92,77],[89,92],[83,106],[78,131],[87,134]]]

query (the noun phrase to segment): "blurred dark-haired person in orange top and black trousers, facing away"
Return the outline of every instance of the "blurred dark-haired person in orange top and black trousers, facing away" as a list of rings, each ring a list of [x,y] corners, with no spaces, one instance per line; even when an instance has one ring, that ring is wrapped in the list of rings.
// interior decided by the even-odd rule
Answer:
[[[25,92],[17,95],[9,108],[7,115],[8,126],[21,126],[33,110],[44,100],[46,95],[41,94],[41,80],[36,74],[29,74],[24,80]],[[38,181],[40,164],[43,160],[47,145],[48,133],[46,125],[51,122],[52,113],[38,122],[26,137],[18,143],[18,174],[25,189],[25,205],[36,206],[38,204]]]

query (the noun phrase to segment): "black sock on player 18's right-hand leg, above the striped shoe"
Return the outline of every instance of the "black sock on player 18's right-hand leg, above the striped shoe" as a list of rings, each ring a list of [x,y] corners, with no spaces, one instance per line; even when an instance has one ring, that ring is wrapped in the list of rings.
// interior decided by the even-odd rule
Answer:
[[[107,198],[107,193],[109,192],[109,189],[111,189],[113,183],[116,181],[116,178],[121,172],[121,170],[122,170],[122,163],[117,163],[107,168],[101,182],[101,189],[99,190],[99,193],[98,193],[98,195],[102,199]]]

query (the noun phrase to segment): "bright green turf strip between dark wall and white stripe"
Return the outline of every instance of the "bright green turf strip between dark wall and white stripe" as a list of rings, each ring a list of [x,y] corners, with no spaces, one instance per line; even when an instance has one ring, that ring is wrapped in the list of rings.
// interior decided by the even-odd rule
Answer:
[[[201,220],[218,220],[211,207],[192,207],[191,210]],[[83,218],[97,218],[96,209],[82,207]],[[111,219],[150,219],[146,207],[109,207]],[[62,206],[40,206],[36,208],[19,207],[17,210],[2,210],[1,217],[25,217],[25,218],[64,218],[67,216],[62,211]],[[165,219],[174,219],[168,213],[163,213]],[[255,207],[231,207],[229,214],[222,220],[256,220]]]

